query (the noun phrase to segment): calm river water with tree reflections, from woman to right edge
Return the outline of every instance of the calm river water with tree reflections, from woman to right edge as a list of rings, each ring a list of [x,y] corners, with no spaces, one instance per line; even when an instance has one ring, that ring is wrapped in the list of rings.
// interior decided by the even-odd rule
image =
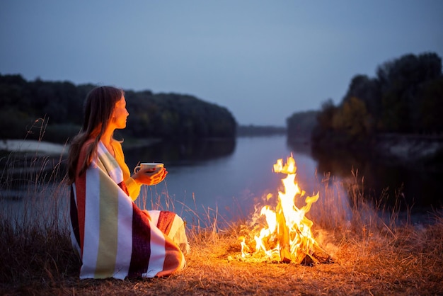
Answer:
[[[326,211],[332,208],[331,203],[346,211],[347,195],[342,185],[356,179],[352,172],[357,173],[359,190],[372,197],[384,193],[386,205],[399,196],[403,208],[413,205],[413,211],[442,207],[443,190],[439,184],[442,171],[387,166],[376,159],[349,153],[316,154],[308,145],[287,144],[286,136],[161,142],[139,149],[123,146],[123,149],[130,168],[139,161],[161,161],[168,169],[165,181],[157,186],[143,186],[138,205],[149,209],[152,203],[160,204],[164,210],[174,210],[188,221],[214,217],[216,211],[219,221],[250,217],[254,205],[263,205],[268,193],[276,197],[278,190],[282,190],[281,180],[285,175],[272,172],[272,166],[277,159],[286,160],[291,155],[297,164],[297,182],[306,195],[322,193],[326,184],[322,179],[330,172],[328,186],[335,190],[333,200],[321,194],[317,202],[326,205]],[[13,198],[7,203],[20,210],[23,200]]]

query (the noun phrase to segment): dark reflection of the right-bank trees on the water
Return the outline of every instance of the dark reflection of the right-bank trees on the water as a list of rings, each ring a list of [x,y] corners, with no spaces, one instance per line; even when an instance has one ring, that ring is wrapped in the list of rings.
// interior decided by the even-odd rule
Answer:
[[[387,162],[370,154],[341,149],[312,149],[312,157],[318,161],[318,171],[331,172],[345,181],[357,179],[367,198],[384,197],[386,207],[392,207],[396,198],[401,201],[402,210],[408,207],[413,207],[413,211],[442,207],[443,190],[439,182],[443,170]]]

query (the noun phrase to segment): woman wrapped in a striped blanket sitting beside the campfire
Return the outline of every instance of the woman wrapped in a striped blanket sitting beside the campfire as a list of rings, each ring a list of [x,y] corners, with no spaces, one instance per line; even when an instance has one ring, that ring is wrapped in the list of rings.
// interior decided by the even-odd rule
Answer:
[[[82,261],[80,278],[151,278],[185,266],[178,246],[189,248],[183,220],[133,202],[143,184],[160,183],[167,171],[140,169],[130,176],[113,138],[128,115],[121,89],[96,87],[86,96],[84,124],[69,147],[71,240]]]

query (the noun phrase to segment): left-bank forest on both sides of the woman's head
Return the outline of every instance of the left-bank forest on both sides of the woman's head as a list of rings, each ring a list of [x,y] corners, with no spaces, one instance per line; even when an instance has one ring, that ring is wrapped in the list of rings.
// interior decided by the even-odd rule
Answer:
[[[81,129],[84,98],[93,87],[0,74],[0,139],[67,142]],[[125,138],[236,135],[237,123],[229,110],[193,96],[125,90],[125,97],[130,113],[121,132]]]

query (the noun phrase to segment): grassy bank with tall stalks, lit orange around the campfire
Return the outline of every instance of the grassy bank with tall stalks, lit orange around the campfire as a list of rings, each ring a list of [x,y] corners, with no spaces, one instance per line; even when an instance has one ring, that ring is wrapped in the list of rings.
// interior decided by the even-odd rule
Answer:
[[[59,212],[67,188],[45,186],[47,178],[39,176],[23,179],[32,197],[23,216],[6,206],[0,216],[0,295],[443,295],[442,211],[423,223],[403,220],[395,209],[381,215],[382,209],[363,202],[356,184],[349,186],[350,217],[328,203],[311,210],[313,233],[332,264],[243,261],[238,237],[247,230],[245,221],[221,227],[208,218],[189,226],[192,251],[180,273],[79,280],[67,217]],[[13,190],[10,183],[3,179],[2,192]],[[334,194],[326,190],[322,199]]]

